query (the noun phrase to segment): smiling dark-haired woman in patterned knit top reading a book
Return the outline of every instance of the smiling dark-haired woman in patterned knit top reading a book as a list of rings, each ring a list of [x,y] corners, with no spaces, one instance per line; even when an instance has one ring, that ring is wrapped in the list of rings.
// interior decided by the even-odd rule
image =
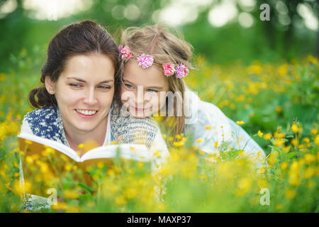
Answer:
[[[30,104],[37,109],[23,118],[21,132],[58,141],[74,150],[86,140],[101,146],[112,140],[135,143],[139,138],[138,142],[145,143],[151,152],[159,150],[163,158],[168,155],[154,122],[122,116],[118,105],[112,105],[118,55],[111,35],[93,21],[63,28],[50,41],[40,79],[43,86],[29,94]],[[21,176],[23,179],[22,171]],[[36,200],[47,205],[45,198]],[[34,202],[29,199],[26,209],[34,209]]]

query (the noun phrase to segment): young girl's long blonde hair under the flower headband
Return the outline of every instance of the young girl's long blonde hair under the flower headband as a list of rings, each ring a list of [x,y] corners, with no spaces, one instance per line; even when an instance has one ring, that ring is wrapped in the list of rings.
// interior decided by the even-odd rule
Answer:
[[[189,69],[191,66],[191,57],[193,55],[193,47],[187,43],[181,33],[175,30],[177,35],[171,33],[167,28],[165,28],[161,23],[153,26],[144,26],[142,28],[130,27],[125,29],[122,33],[121,45],[128,46],[132,55],[134,57],[142,55],[152,55],[154,57],[154,62],[162,65],[162,63],[170,62],[175,65],[184,64]],[[121,61],[121,72],[119,82],[122,81],[122,76],[124,72],[125,61]],[[164,76],[164,74],[163,74]],[[173,120],[174,134],[180,134],[184,132],[185,116],[184,116],[184,92],[185,83],[183,79],[178,79],[175,75],[170,77],[164,77],[169,83],[169,91],[180,92],[177,93],[177,101],[174,101],[174,116],[173,119],[168,117],[166,120]],[[121,84],[118,84],[121,86]],[[120,87],[118,87],[118,94]],[[119,99],[120,97],[117,98]],[[179,102],[180,101],[180,102]],[[177,102],[182,104],[183,114],[181,116],[176,116],[177,114]]]

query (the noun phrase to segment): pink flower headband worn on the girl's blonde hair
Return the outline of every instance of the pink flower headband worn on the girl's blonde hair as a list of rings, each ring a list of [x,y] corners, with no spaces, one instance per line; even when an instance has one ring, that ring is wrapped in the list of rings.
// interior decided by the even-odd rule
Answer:
[[[132,52],[130,52],[130,48],[128,46],[120,45],[118,47],[118,50],[120,50],[120,57],[123,60],[128,60],[130,57],[132,57]],[[148,68],[152,66],[153,64],[159,65],[158,63],[154,62],[154,57],[151,55],[145,55],[144,53],[137,57],[138,65],[142,66],[143,69]],[[163,63],[162,65],[159,65],[163,67],[164,75],[169,77],[173,74],[176,74],[176,78],[183,78],[186,77],[187,74],[189,74],[189,69],[186,65],[183,64],[177,64],[175,67],[172,63]]]

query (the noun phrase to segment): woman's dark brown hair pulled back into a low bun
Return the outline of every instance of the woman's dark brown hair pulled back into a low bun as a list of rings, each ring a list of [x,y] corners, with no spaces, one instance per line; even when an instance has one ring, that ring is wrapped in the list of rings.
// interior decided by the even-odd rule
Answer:
[[[119,69],[118,46],[105,28],[94,21],[80,21],[62,28],[50,40],[47,48],[47,60],[41,70],[42,87],[33,89],[28,100],[35,108],[41,106],[57,106],[54,95],[45,89],[45,77],[49,76],[56,82],[63,71],[69,57],[74,55],[103,54],[111,57],[115,70],[115,84]]]

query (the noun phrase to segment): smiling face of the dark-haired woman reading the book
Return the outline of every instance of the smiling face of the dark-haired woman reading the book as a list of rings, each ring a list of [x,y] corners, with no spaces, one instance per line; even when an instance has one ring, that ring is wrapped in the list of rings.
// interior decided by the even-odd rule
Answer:
[[[114,94],[114,67],[107,55],[69,57],[57,82],[45,78],[55,94],[66,133],[101,133]]]

